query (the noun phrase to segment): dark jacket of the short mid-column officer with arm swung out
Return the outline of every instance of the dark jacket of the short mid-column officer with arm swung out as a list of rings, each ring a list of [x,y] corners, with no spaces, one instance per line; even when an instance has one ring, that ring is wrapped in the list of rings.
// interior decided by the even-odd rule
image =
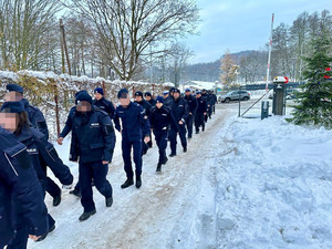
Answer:
[[[169,125],[178,127],[177,122],[175,121],[170,110],[163,105],[160,108],[153,107],[149,115],[151,127],[154,131],[168,131]],[[178,129],[178,128],[177,128]]]

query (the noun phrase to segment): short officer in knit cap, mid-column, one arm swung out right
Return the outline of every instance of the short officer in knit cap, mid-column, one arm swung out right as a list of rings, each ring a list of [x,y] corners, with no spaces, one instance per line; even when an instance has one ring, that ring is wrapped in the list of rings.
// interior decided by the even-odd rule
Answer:
[[[162,172],[162,165],[166,164],[166,148],[168,141],[169,125],[173,125],[178,131],[178,124],[175,121],[170,110],[164,106],[164,98],[157,96],[156,106],[151,112],[151,127],[154,132],[155,139],[159,149],[159,160],[157,164],[156,172]]]

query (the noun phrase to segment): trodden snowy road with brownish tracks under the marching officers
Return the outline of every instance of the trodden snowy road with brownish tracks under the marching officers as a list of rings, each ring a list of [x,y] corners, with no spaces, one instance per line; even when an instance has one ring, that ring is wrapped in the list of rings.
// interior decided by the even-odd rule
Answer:
[[[216,248],[218,212],[216,206],[217,184],[216,147],[222,146],[222,124],[227,111],[219,110],[207,123],[206,132],[194,134],[188,152],[169,158],[163,174],[155,173],[157,147],[144,156],[143,186],[121,189],[125,180],[120,152],[120,137],[108,180],[113,186],[114,204],[105,207],[105,200],[96,189],[94,199],[97,212],[87,221],[77,220],[82,212],[80,200],[66,193],[59,207],[51,206],[50,214],[56,220],[56,229],[49,237],[29,248]],[[58,147],[63,159],[68,158],[65,147]],[[169,152],[169,148],[168,148]],[[220,152],[220,147],[218,148]],[[74,176],[76,166],[69,163]]]

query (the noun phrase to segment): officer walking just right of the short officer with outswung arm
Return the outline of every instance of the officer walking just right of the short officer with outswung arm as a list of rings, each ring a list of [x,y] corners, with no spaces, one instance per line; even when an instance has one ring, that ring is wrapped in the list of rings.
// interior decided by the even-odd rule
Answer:
[[[178,124],[178,133],[181,141],[184,152],[187,152],[187,138],[186,138],[186,120],[188,117],[188,104],[180,97],[180,91],[174,90],[173,100],[170,102],[170,111]],[[170,154],[169,156],[176,156],[176,144],[177,144],[177,129],[174,125],[170,126],[169,131],[170,139]]]

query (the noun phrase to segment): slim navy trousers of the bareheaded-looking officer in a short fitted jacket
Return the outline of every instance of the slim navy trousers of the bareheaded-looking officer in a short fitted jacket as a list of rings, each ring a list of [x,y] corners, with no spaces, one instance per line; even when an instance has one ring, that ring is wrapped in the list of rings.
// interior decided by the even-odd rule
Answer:
[[[134,163],[136,167],[135,175],[142,175],[142,141],[129,142],[125,137],[122,139],[122,157],[124,162],[124,169],[126,172],[127,178],[134,177],[134,172],[132,167],[132,146],[134,149]]]

